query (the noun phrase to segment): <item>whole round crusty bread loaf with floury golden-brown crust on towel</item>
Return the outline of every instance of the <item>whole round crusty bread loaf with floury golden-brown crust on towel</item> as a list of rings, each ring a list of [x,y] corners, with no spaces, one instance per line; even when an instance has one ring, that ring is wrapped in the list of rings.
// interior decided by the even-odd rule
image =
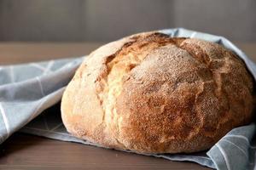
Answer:
[[[84,59],[61,116],[69,133],[108,148],[206,150],[252,119],[253,77],[217,43],[141,33]]]

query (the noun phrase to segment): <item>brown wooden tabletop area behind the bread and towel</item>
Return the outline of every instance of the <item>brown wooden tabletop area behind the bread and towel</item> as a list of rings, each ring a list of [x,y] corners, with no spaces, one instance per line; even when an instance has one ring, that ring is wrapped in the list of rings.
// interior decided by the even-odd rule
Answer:
[[[84,56],[102,44],[104,42],[0,42],[0,65]],[[256,43],[236,45],[256,61]]]

